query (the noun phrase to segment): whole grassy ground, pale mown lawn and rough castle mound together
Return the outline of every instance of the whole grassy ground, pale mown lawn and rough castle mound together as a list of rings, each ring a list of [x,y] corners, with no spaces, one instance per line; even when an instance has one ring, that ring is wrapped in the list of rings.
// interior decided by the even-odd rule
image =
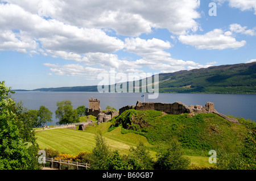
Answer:
[[[256,169],[256,125],[243,118],[238,121],[241,124],[233,124],[212,113],[192,117],[186,113],[127,110],[108,123],[88,126],[85,131],[49,129],[37,131],[36,137],[41,149],[76,155],[79,151],[92,151],[94,136],[101,131],[112,150],[128,154],[130,146],[141,141],[154,158],[159,146],[165,148],[176,139],[194,165],[211,166],[208,152],[216,150],[219,160],[228,160],[232,169]]]

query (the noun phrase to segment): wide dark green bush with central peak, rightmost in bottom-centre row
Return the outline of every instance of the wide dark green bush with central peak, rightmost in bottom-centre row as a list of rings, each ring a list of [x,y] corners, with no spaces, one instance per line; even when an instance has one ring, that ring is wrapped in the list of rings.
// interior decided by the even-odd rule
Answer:
[[[190,160],[183,156],[181,144],[177,140],[172,140],[167,149],[160,149],[156,154],[156,169],[161,170],[183,170],[188,169]]]

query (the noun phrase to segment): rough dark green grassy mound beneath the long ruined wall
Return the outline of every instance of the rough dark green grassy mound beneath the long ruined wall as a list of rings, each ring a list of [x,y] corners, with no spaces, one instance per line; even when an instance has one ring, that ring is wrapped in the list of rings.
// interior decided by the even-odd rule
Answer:
[[[127,110],[112,120],[109,130],[122,127],[122,133],[143,135],[152,145],[167,145],[176,138],[187,155],[207,156],[209,150],[216,150],[219,157],[232,155],[255,167],[256,124],[243,118],[238,121],[241,124],[233,124],[213,113],[192,117]]]

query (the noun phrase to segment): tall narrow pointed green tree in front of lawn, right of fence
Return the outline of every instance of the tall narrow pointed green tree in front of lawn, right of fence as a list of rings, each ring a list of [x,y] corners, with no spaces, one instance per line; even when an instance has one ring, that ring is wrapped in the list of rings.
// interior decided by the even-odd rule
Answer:
[[[106,144],[101,132],[96,134],[95,140],[96,146],[92,150],[92,163],[90,166],[94,170],[108,169],[108,159],[111,156],[109,145]]]

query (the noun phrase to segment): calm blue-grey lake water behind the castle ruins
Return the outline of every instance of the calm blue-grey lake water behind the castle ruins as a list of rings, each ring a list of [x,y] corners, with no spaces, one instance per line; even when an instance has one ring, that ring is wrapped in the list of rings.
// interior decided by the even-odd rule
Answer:
[[[101,110],[106,106],[119,108],[127,105],[135,105],[137,100],[144,101],[141,95],[145,95],[145,102],[174,103],[181,102],[185,105],[202,105],[213,102],[215,109],[225,115],[244,117],[245,119],[256,120],[256,95],[243,94],[172,94],[159,93],[157,99],[148,99],[147,93],[114,93],[114,92],[16,92],[13,98],[16,102],[22,100],[24,107],[31,110],[39,110],[40,106],[47,107],[53,113],[55,119],[56,103],[62,100],[71,100],[73,108],[84,105],[89,107],[89,98],[100,100]]]

